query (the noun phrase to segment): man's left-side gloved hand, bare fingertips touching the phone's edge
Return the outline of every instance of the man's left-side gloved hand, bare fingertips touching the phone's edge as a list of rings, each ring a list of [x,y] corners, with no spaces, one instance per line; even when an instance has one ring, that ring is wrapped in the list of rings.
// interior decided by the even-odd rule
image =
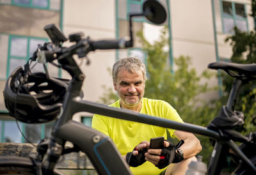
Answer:
[[[145,153],[147,153],[149,148],[149,142],[148,141],[143,141],[140,144],[138,144],[132,152],[129,152],[126,154],[126,162],[129,164],[131,167],[138,167],[144,162],[145,160]]]

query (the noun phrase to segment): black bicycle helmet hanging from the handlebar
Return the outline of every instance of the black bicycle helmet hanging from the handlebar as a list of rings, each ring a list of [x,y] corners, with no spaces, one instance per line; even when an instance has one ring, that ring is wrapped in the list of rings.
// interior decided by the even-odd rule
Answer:
[[[31,73],[16,68],[4,88],[4,103],[10,116],[24,123],[46,123],[60,113],[67,91],[63,79],[47,77],[45,73]]]

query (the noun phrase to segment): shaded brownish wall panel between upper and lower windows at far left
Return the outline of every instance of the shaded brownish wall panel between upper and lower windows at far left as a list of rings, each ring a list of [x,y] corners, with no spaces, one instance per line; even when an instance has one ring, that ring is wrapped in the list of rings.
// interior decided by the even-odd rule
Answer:
[[[3,4],[0,6],[0,11],[1,33],[47,37],[44,26],[60,23],[60,15],[57,11],[20,8]]]

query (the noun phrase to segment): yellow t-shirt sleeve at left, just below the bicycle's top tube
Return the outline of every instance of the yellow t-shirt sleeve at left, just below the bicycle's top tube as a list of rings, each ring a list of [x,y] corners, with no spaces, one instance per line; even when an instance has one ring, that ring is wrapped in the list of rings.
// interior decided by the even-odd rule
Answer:
[[[92,118],[92,128],[99,130],[109,137],[108,121],[105,116],[94,114]]]

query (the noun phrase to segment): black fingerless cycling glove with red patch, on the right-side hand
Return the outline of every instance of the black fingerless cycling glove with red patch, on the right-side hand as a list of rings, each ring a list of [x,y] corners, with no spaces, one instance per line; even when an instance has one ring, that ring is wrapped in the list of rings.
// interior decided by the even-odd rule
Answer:
[[[168,141],[169,142],[169,141]],[[181,140],[176,146],[173,145],[172,142],[169,142],[169,146],[167,148],[163,148],[160,155],[160,160],[156,167],[159,169],[163,169],[164,167],[167,167],[169,164],[172,163],[178,163],[184,160],[183,154],[179,153],[179,151],[176,151],[182,144],[184,143],[183,140]]]

